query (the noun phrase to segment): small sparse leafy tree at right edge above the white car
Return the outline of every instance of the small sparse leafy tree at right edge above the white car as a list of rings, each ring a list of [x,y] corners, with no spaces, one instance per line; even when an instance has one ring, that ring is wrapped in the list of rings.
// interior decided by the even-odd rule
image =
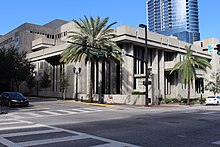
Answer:
[[[216,93],[220,93],[220,73],[212,73],[210,78],[210,81],[207,80],[208,83],[205,86],[205,90],[209,90],[216,95]]]

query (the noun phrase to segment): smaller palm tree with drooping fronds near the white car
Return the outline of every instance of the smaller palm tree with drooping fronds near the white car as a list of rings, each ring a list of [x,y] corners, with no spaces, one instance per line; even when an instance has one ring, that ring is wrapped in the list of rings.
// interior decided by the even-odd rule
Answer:
[[[196,69],[202,69],[206,72],[206,68],[212,68],[211,64],[202,57],[194,57],[192,55],[193,50],[191,50],[192,45],[185,46],[186,48],[186,59],[176,63],[176,65],[171,70],[170,74],[174,71],[178,71],[178,74],[182,78],[182,83],[186,82],[188,85],[187,92],[187,104],[190,104],[190,82],[196,78]]]

